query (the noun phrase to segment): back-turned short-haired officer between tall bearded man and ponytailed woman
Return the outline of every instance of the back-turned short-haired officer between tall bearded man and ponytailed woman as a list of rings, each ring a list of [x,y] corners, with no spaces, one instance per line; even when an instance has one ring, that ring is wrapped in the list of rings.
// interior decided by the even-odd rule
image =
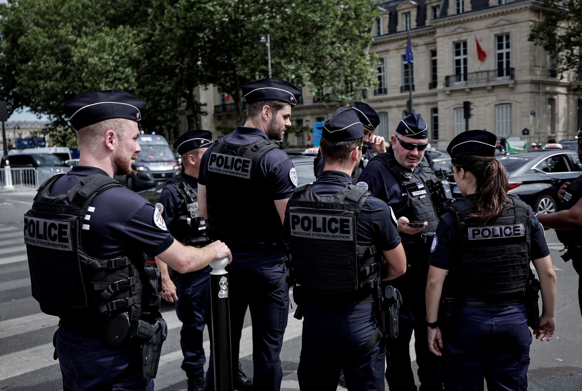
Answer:
[[[340,107],[323,127],[324,171],[296,190],[285,214],[293,298],[305,318],[301,390],[335,390],[340,368],[347,389],[384,390],[375,301],[382,279],[406,271],[406,258],[391,208],[352,184],[367,149],[363,136],[356,110]]]

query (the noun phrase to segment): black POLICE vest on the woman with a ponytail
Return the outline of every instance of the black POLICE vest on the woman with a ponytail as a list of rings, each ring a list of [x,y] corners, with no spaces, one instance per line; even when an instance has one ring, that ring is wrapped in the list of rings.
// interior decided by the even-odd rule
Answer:
[[[480,226],[473,199],[457,201],[455,212],[462,241],[457,243],[462,263],[455,264],[456,296],[468,305],[521,303],[530,273],[530,218],[527,205],[510,196],[501,214]]]

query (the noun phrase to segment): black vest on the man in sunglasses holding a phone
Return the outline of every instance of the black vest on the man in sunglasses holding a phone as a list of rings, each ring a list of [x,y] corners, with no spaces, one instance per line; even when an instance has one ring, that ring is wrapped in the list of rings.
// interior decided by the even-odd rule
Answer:
[[[391,151],[379,154],[372,160],[378,159],[394,177],[399,180],[400,186],[406,189],[406,203],[405,204],[389,204],[394,209],[396,218],[405,216],[410,221],[426,221],[428,226],[420,233],[410,235],[400,233],[402,244],[407,249],[410,243],[428,243],[430,245],[432,236],[437,230],[438,216],[437,208],[432,202],[431,193],[433,191],[433,182],[438,182],[437,176],[434,175],[432,169],[428,165],[425,158],[418,163],[420,172],[413,173],[411,170],[401,166],[394,158]]]

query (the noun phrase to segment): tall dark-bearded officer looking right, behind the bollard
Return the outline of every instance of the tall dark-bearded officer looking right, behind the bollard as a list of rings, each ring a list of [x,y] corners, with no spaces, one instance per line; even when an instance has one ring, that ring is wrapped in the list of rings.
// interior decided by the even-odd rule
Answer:
[[[281,228],[297,171],[276,141],[291,126],[291,109],[301,90],[281,79],[256,80],[242,90],[247,121],[204,153],[198,206],[200,215],[208,217],[208,236],[228,243],[236,258],[236,267],[227,268],[233,361],[249,307],[254,389],[279,390],[279,354],[289,312]],[[213,370],[208,368],[209,375]]]

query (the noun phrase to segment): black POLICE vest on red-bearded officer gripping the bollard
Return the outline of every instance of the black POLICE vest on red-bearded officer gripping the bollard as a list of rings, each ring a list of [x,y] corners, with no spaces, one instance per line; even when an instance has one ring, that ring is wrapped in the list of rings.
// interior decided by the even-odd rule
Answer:
[[[24,214],[24,243],[29,260],[32,296],[41,311],[78,322],[104,321],[109,315],[141,315],[144,290],[143,253],[100,260],[81,246],[87,209],[95,195],[121,186],[104,174],[84,177],[63,194],[48,190],[62,175],[38,189],[33,207]]]

